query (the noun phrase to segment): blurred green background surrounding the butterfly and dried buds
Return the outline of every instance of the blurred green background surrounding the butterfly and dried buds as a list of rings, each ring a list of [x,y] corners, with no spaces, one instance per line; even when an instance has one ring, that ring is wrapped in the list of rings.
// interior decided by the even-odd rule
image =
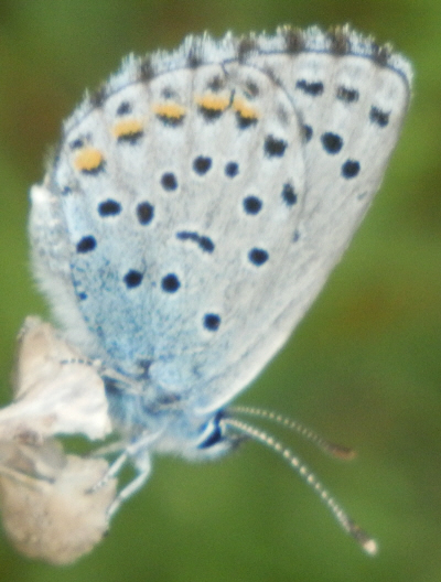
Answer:
[[[349,22],[415,64],[411,110],[381,191],[294,338],[239,401],[354,446],[344,464],[286,434],[380,543],[366,557],[318,498],[255,444],[219,463],[158,459],[77,564],[55,569],[0,539],[0,580],[100,582],[441,580],[440,0],[1,0],[0,389],[15,334],[47,315],[30,277],[28,191],[82,97],[128,52],[208,29]]]

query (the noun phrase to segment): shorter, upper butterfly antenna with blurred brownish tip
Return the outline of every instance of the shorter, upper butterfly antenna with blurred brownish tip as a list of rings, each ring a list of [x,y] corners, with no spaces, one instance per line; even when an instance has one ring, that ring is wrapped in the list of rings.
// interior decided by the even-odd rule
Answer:
[[[297,432],[298,434],[306,439],[306,441],[314,444],[318,449],[336,459],[342,459],[343,461],[352,461],[356,456],[356,452],[354,451],[354,449],[332,443],[331,441],[323,439],[323,436],[318,434],[309,427],[305,427],[301,422],[293,420],[289,417],[280,414],[279,412],[266,410],[265,408],[246,406],[230,407],[228,408],[228,411],[236,412],[239,414],[248,414],[255,418],[261,418],[275,422],[276,424],[279,424],[288,430]]]

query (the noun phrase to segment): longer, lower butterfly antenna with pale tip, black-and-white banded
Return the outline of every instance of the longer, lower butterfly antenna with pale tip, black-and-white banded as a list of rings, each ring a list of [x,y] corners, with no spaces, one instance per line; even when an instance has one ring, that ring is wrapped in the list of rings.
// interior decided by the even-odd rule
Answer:
[[[369,556],[375,556],[378,550],[377,542],[364,531],[346,511],[335,502],[327,489],[318,479],[318,477],[308,468],[308,466],[281,441],[275,439],[271,434],[261,429],[257,429],[252,424],[248,424],[243,420],[225,417],[222,421],[224,424],[246,434],[250,439],[260,442],[282,456],[287,463],[293,468],[312,489],[319,495],[322,502],[326,505],[335,519],[342,528],[355,539],[362,549]]]

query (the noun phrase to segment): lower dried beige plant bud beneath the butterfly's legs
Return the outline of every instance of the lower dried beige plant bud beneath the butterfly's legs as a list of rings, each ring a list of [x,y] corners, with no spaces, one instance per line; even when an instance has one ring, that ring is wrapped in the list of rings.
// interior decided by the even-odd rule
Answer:
[[[3,527],[30,558],[66,564],[89,552],[106,534],[117,481],[93,487],[108,471],[103,459],[64,455],[42,446],[0,443],[0,503]]]

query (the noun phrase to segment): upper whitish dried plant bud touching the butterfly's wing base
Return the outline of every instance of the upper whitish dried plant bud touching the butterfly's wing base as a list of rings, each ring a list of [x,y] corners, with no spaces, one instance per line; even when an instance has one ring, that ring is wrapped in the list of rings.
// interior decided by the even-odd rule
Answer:
[[[111,431],[104,382],[93,363],[49,323],[28,317],[19,337],[14,401],[0,410],[0,440],[55,434],[96,440]]]

